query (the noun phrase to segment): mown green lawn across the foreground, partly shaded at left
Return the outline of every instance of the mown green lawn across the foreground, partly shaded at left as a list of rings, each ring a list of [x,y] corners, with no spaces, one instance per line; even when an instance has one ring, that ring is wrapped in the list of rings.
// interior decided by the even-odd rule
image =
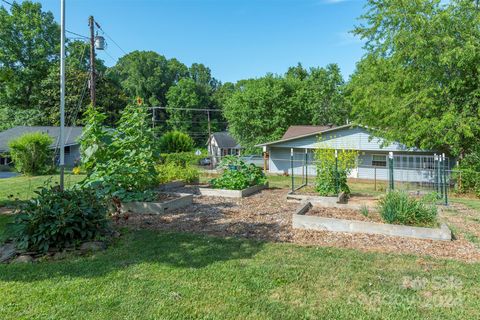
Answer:
[[[105,253],[0,265],[0,292],[2,319],[478,319],[480,265],[132,231]]]

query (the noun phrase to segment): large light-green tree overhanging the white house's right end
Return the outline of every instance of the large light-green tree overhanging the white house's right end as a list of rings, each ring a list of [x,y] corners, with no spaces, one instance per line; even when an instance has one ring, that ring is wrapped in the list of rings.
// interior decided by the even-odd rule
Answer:
[[[474,1],[369,0],[354,33],[367,55],[349,84],[356,121],[409,147],[463,157],[480,141]]]

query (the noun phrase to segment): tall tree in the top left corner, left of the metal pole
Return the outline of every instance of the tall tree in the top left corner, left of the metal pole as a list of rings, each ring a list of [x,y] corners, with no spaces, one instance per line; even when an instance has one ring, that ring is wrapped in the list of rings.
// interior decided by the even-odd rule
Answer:
[[[43,12],[39,3],[14,2],[10,12],[0,8],[0,107],[7,121],[17,122],[6,109],[29,116],[37,112],[40,83],[58,59],[59,39],[53,14]],[[35,124],[36,117],[23,120],[28,118]]]

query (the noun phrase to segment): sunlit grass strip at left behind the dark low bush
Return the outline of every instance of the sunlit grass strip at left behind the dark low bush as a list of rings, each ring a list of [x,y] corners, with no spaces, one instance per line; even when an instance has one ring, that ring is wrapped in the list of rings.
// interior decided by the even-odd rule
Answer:
[[[82,180],[84,175],[65,175],[65,186],[69,187]],[[11,205],[13,200],[28,200],[35,193],[35,190],[44,185],[54,185],[58,183],[59,175],[47,176],[19,176],[7,179],[0,179],[0,206]],[[10,196],[13,196],[10,197]]]

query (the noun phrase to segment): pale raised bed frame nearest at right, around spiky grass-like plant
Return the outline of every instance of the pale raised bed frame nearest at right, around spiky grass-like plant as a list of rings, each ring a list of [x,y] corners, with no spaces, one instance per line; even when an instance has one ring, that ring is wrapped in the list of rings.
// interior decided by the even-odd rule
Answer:
[[[313,209],[313,210],[312,210]],[[337,212],[326,215],[311,215],[310,210],[315,213],[315,205],[312,202],[304,202],[294,213],[292,225],[297,229],[332,231],[346,233],[380,234],[386,236],[409,237],[429,240],[452,240],[452,232],[446,224],[440,228],[412,227],[374,222],[373,216],[370,221],[360,221],[361,213],[352,216],[351,212]],[[333,212],[333,211],[332,211]],[[366,218],[366,217],[365,217]]]

